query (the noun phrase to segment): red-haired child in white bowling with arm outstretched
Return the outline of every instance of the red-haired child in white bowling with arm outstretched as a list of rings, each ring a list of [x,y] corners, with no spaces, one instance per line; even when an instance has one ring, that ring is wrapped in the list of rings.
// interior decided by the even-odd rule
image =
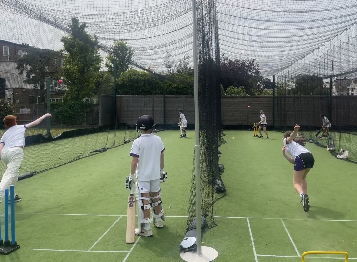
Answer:
[[[24,158],[25,131],[29,127],[40,124],[42,120],[50,116],[50,114],[43,115],[27,125],[17,125],[15,116],[5,116],[4,124],[7,131],[0,140],[0,160],[5,163],[7,168],[0,182],[0,202],[4,197],[5,189],[10,188],[11,185],[14,185],[15,188],[15,202],[22,200],[21,197],[16,195],[16,182],[19,178],[21,161]]]

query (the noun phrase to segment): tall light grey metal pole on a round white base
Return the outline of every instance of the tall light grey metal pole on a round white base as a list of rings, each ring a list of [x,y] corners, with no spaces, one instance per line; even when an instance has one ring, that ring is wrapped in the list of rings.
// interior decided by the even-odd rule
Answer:
[[[210,0],[211,1],[211,0]],[[193,74],[195,88],[195,185],[196,185],[196,253],[181,252],[181,258],[189,262],[208,262],[215,260],[218,252],[211,247],[202,246],[201,228],[201,170],[200,170],[200,118],[198,104],[198,59],[197,59],[197,14],[196,0],[192,0],[192,27],[193,27]]]

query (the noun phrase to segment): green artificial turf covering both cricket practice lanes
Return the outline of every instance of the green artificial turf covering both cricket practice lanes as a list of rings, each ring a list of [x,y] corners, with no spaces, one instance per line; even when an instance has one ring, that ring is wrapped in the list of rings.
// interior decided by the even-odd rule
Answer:
[[[357,257],[357,222],[336,221],[357,220],[355,164],[308,143],[315,167],[307,176],[311,209],[305,213],[292,185],[293,165],[281,153],[282,133],[269,132],[270,140],[248,131],[225,133],[220,163],[225,165],[222,180],[227,195],[215,203],[217,226],[204,232],[202,239],[202,245],[218,251],[216,261],[255,262],[252,238],[257,255],[292,256],[257,256],[259,262],[301,261],[288,233],[299,255],[308,250],[334,250]],[[129,192],[124,180],[130,172],[130,142],[19,181],[17,193],[23,200],[15,203],[15,209],[16,240],[21,248],[1,256],[1,261],[182,261],[179,245],[187,222],[194,132],[187,131],[184,139],[178,138],[179,131],[157,135],[166,147],[168,178],[161,185],[165,226],[153,228],[153,237],[136,237],[135,246],[125,243]],[[51,153],[56,161],[58,152]],[[26,161],[41,161],[25,151],[26,157]],[[4,234],[3,215],[1,219]]]

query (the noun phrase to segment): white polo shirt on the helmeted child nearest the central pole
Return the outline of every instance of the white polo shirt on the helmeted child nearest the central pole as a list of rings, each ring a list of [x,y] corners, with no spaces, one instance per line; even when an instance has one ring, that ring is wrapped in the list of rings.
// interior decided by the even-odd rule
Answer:
[[[138,157],[137,180],[151,181],[160,179],[161,153],[165,147],[158,136],[141,134],[134,140],[130,155]]]

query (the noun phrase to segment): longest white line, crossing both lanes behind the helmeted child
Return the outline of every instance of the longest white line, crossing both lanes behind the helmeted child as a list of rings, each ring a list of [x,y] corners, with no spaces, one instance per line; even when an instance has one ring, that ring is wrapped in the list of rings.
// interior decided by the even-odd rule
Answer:
[[[97,215],[97,214],[63,214],[63,213],[58,213],[58,214],[47,214],[47,213],[16,213],[16,215],[59,215],[59,216],[102,216],[102,217],[117,217],[117,216],[123,216],[125,217],[126,215]],[[165,217],[187,217],[187,216],[165,216]],[[340,221],[340,222],[357,222],[357,220],[333,220],[333,219],[302,219],[302,218],[278,218],[278,217],[228,217],[228,216],[215,216],[217,218],[242,218],[242,219],[282,219],[282,220],[300,220],[300,221]]]

